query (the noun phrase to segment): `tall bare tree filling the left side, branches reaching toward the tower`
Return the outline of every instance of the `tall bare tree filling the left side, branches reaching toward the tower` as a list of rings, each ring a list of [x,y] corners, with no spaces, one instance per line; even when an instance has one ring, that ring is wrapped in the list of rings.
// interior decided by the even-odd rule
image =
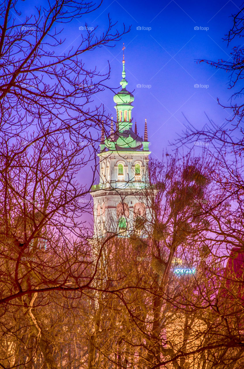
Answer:
[[[84,22],[78,46],[67,48],[63,27],[95,4],[47,2],[26,18],[21,6],[10,0],[0,8],[0,365],[51,369],[60,366],[52,335],[57,311],[62,316],[57,306],[69,311],[70,324],[72,301],[95,289],[101,256],[86,259],[92,246],[81,215],[90,205],[80,199],[93,183],[79,184],[77,173],[94,160],[106,129],[93,96],[106,88],[109,70],[87,68],[83,54],[113,46],[126,31],[109,17],[101,35]],[[69,356],[71,340],[60,325],[61,351]]]

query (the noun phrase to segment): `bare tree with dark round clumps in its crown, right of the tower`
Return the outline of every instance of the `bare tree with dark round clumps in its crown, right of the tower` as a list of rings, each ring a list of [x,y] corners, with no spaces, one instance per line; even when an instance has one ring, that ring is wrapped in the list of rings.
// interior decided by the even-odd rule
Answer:
[[[209,278],[219,264],[217,256],[216,262],[210,258],[212,274],[206,279],[202,258],[213,245],[208,247],[202,239],[213,226],[205,210],[222,199],[210,184],[209,173],[214,170],[215,163],[190,155],[150,163],[144,190],[150,216],[135,217],[129,238],[122,234],[106,246],[107,281],[112,281],[117,299],[112,306],[107,302],[111,319],[104,334],[97,335],[100,368],[108,367],[107,360],[111,368],[206,365],[204,354],[210,346],[208,342],[201,349],[208,329],[201,312],[209,305],[202,294],[206,296]],[[176,269],[189,275],[178,276]],[[192,269],[197,269],[196,275]],[[216,286],[209,285],[208,299]]]

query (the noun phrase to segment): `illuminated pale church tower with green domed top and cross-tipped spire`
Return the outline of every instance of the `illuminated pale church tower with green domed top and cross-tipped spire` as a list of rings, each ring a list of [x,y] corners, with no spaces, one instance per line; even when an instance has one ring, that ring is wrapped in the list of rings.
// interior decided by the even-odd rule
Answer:
[[[138,217],[149,216],[143,195],[150,154],[147,121],[142,138],[137,134],[136,123],[132,129],[134,96],[126,90],[124,56],[122,64],[122,89],[114,96],[116,121],[111,121],[108,137],[102,132],[98,154],[100,183],[93,186],[91,192],[95,237],[115,232],[126,236]]]

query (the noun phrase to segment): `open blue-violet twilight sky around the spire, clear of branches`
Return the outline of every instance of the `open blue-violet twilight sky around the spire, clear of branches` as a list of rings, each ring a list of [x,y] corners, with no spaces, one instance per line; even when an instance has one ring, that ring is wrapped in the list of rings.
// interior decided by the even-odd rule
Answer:
[[[231,111],[217,104],[217,97],[225,104],[231,96],[227,89],[228,75],[206,64],[199,65],[195,59],[217,61],[230,57],[231,48],[227,49],[222,37],[232,25],[231,13],[236,13],[240,4],[221,0],[153,1],[151,4],[145,0],[105,0],[95,13],[86,16],[88,27],[98,25],[98,32],[107,24],[108,13],[113,21],[118,21],[118,29],[122,23],[132,25],[131,31],[115,48],[99,49],[89,63],[107,72],[109,61],[111,79],[108,85],[118,87],[125,43],[127,89],[135,96],[132,116],[134,122],[137,121],[139,133],[147,118],[154,157],[161,158],[168,141],[172,142],[185,129],[182,112],[196,128],[207,122],[204,112],[216,124],[230,117]],[[84,26],[83,19],[72,24],[77,32],[80,26]],[[196,88],[196,84],[206,87]],[[98,94],[96,101],[104,103],[115,117],[111,91]]]

